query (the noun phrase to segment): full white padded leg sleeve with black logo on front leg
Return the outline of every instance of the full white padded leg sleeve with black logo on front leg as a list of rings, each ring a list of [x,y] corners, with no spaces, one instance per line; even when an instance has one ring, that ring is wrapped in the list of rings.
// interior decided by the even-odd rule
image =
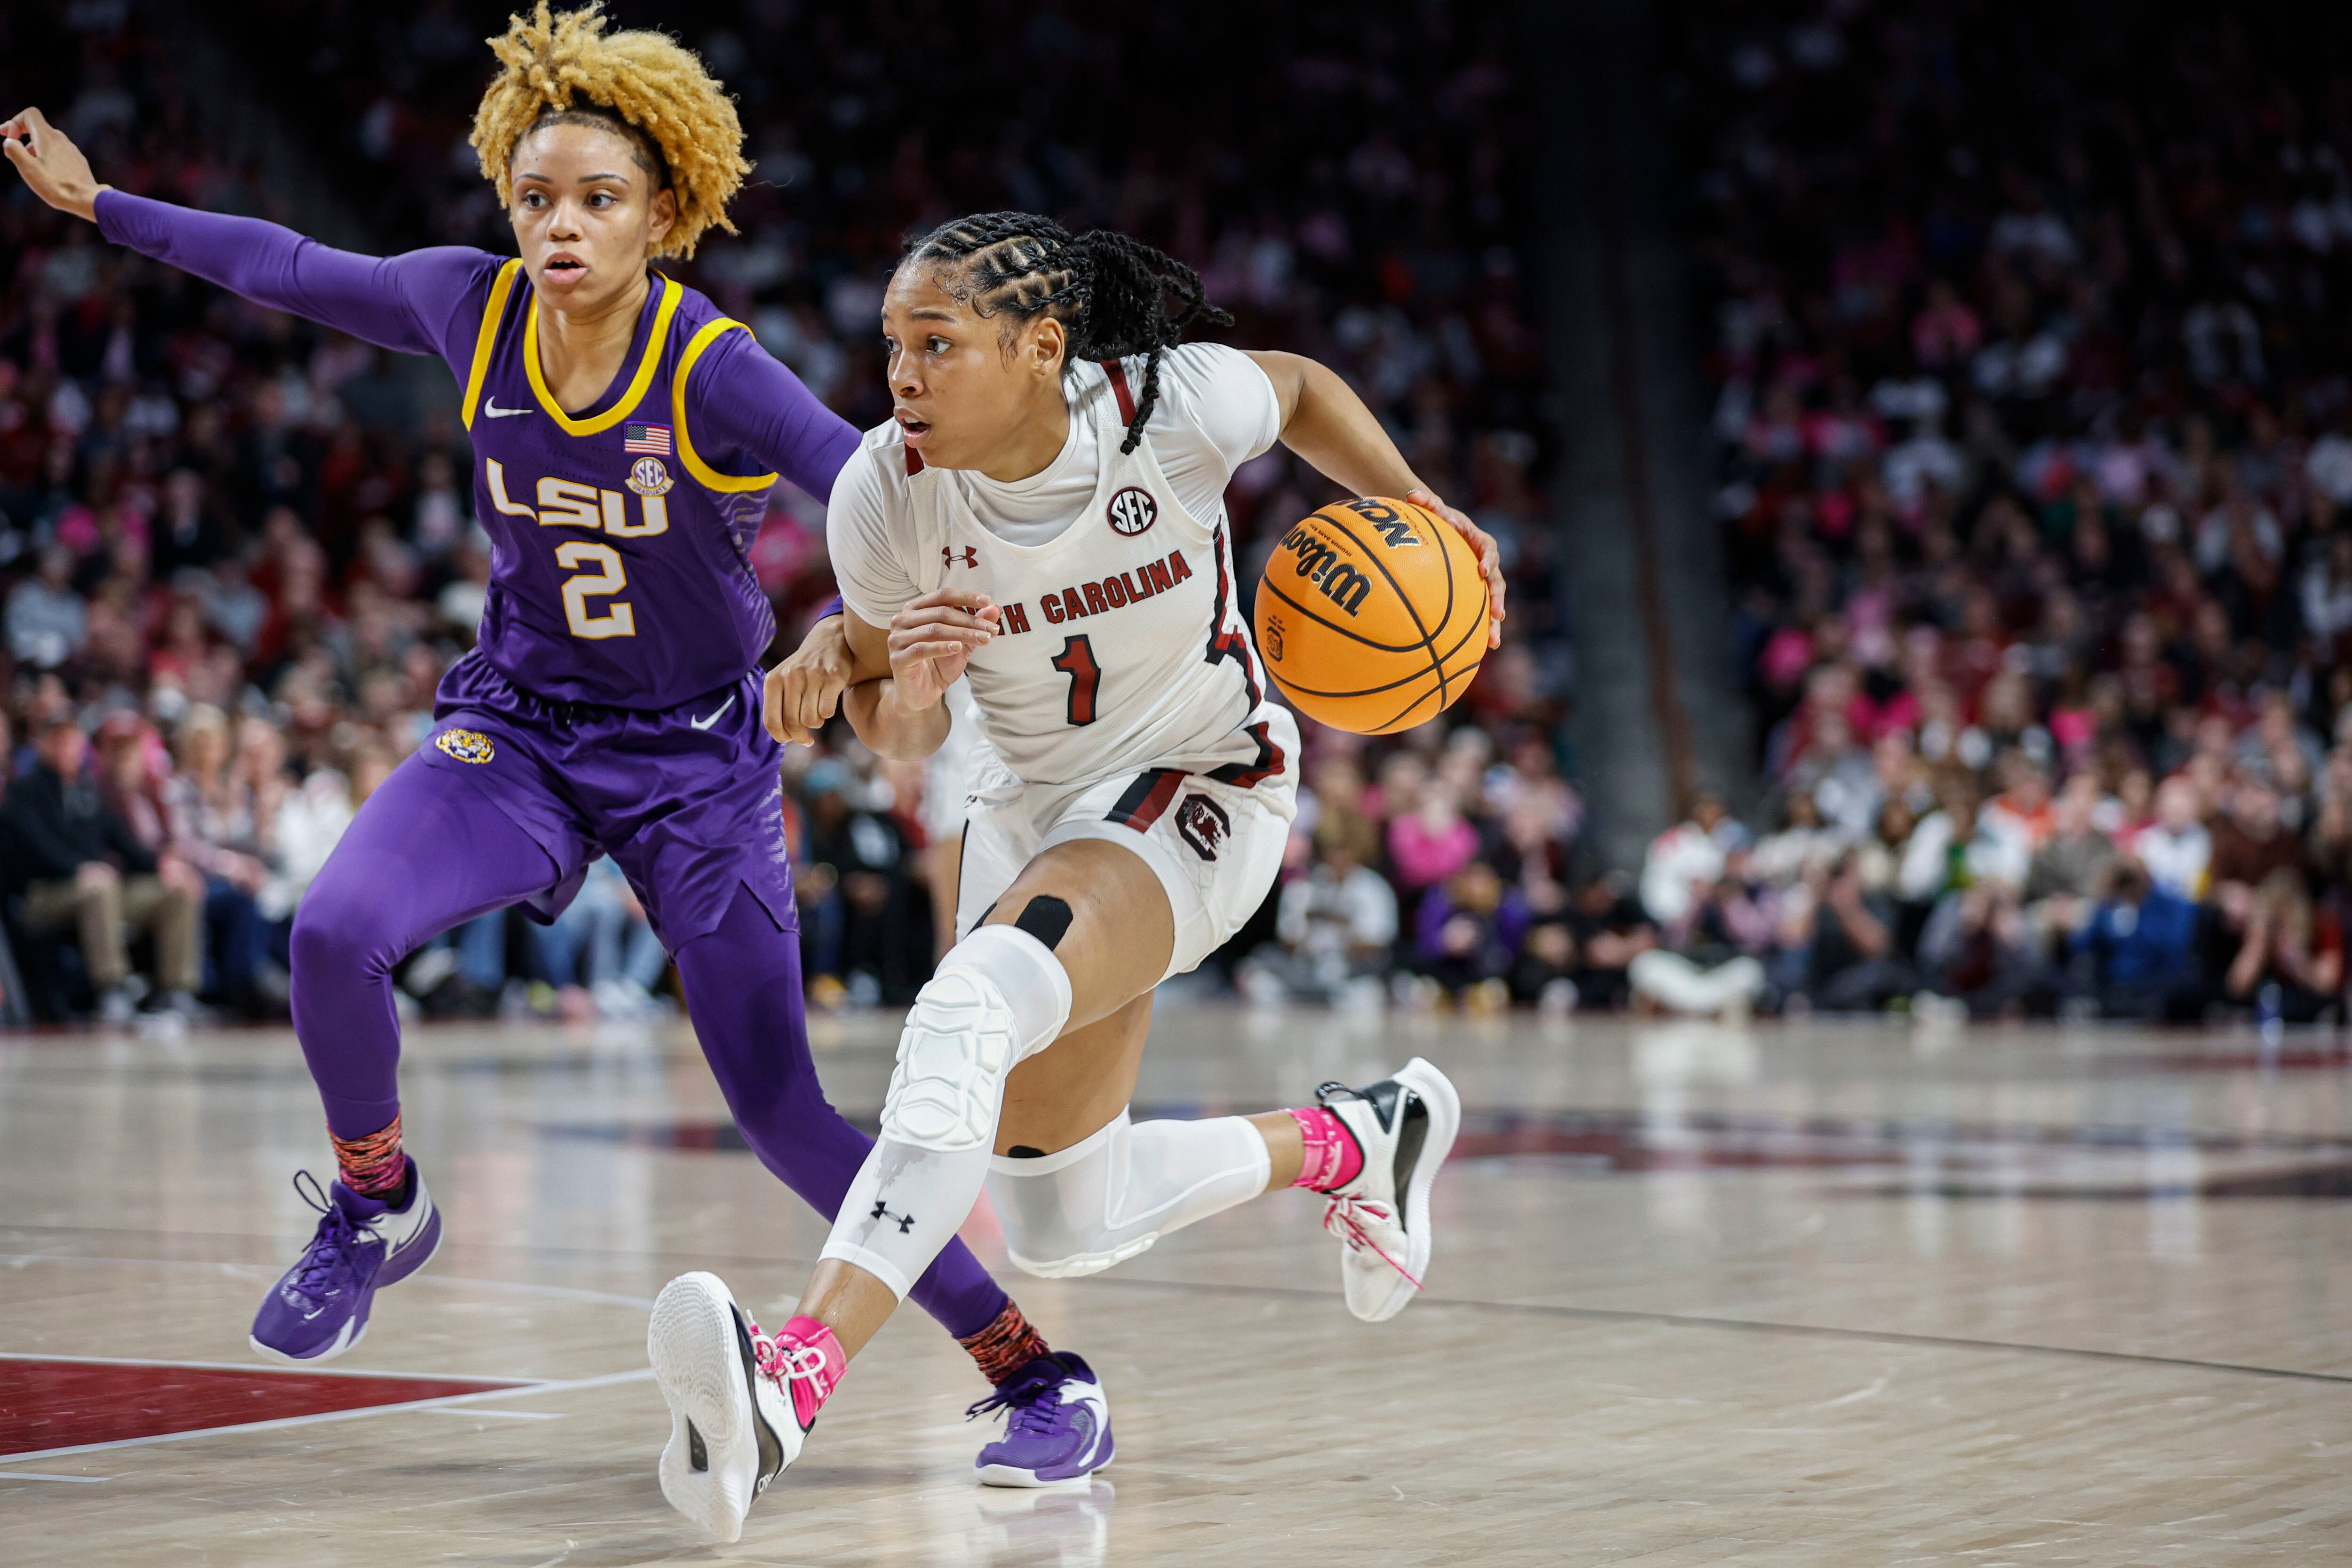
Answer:
[[[1035,936],[981,926],[957,943],[908,1009],[882,1138],[818,1255],[854,1262],[906,1300],[981,1197],[1004,1077],[1068,1020],[1070,976]]]

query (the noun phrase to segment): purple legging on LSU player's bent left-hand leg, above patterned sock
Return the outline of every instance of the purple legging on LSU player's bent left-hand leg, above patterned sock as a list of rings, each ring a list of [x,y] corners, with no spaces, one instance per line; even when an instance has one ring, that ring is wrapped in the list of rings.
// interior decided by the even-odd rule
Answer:
[[[520,903],[555,860],[463,778],[409,757],[367,797],[294,912],[294,1037],[327,1128],[400,1114],[393,966],[435,931]]]

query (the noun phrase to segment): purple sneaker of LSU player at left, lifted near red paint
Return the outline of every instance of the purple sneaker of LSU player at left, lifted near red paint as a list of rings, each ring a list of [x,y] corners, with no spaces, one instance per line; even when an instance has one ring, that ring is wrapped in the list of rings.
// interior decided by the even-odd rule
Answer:
[[[376,1291],[421,1269],[440,1246],[440,1211],[414,1159],[402,1208],[343,1182],[320,1192],[308,1171],[294,1178],[294,1192],[320,1211],[318,1229],[301,1262],[270,1286],[249,1342],[270,1361],[332,1361],[367,1335]]]

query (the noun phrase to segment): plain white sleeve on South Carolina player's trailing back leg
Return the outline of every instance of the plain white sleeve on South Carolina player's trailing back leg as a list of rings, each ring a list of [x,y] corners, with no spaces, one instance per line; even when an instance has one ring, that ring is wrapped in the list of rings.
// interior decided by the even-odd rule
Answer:
[[[1025,1274],[1101,1274],[1171,1229],[1265,1192],[1265,1138],[1242,1117],[1120,1117],[1087,1140],[1035,1159],[988,1161],[1004,1248]]]

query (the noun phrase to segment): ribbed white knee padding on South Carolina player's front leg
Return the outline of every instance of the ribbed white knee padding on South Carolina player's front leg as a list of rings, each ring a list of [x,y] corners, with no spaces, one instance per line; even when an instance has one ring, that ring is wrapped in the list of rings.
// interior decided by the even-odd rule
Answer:
[[[988,1147],[1004,1077],[1054,1044],[1068,1020],[1061,959],[1028,931],[981,926],[941,959],[908,1009],[882,1133],[943,1154]]]

